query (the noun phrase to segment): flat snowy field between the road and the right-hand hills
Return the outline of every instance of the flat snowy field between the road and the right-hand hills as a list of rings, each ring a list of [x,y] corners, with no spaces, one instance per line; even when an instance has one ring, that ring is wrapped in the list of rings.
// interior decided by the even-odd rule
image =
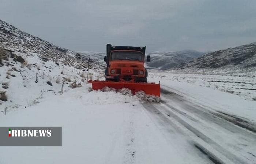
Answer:
[[[256,101],[256,72],[254,74],[240,74],[237,76],[219,74],[182,74],[171,72],[157,72],[150,70],[150,78],[169,80],[179,83],[190,83],[196,86],[208,87],[230,94],[235,94],[246,100]]]

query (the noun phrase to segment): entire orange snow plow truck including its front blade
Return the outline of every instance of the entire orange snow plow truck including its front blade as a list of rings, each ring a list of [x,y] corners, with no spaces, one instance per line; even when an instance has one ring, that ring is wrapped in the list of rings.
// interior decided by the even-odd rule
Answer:
[[[93,89],[103,87],[115,89],[128,88],[135,94],[144,91],[146,94],[160,97],[160,83],[147,83],[147,70],[144,67],[146,47],[112,46],[107,44],[105,81],[90,81]],[[147,56],[150,62],[150,56]]]

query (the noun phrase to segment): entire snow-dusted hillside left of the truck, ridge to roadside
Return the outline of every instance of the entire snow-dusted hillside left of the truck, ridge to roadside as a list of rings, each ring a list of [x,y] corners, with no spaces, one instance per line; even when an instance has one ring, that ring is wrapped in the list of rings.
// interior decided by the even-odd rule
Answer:
[[[90,78],[102,66],[90,60]],[[37,38],[0,20],[0,105],[25,108],[42,97],[86,84],[88,58]]]

